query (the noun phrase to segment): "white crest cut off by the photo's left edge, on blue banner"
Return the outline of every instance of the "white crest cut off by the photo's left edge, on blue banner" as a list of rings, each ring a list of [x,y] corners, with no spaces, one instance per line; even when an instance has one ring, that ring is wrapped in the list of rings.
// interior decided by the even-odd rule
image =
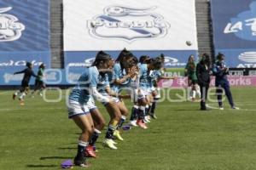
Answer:
[[[3,14],[11,10],[11,7],[0,8],[0,42],[11,42],[21,37],[25,26],[12,14]]]

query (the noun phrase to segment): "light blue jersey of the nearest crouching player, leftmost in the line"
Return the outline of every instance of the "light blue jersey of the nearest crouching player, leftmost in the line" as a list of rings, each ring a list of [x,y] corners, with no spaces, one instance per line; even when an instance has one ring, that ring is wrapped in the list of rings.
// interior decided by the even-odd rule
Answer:
[[[90,99],[90,88],[97,87],[99,82],[99,71],[96,66],[85,68],[84,73],[79,77],[77,85],[73,88],[69,99],[77,101],[80,104],[87,103]]]

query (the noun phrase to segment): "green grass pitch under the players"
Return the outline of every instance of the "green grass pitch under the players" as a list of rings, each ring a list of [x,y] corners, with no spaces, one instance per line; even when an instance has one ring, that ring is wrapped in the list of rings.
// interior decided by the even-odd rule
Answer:
[[[179,90],[172,90],[171,97]],[[79,128],[67,119],[65,96],[59,103],[26,98],[20,106],[12,91],[0,91],[0,169],[60,169],[76,154]],[[199,103],[167,100],[148,129],[122,133],[118,150],[102,147],[89,169],[102,170],[251,170],[256,169],[256,90],[232,88],[240,111],[199,111]],[[55,99],[55,92],[47,97]],[[131,109],[131,103],[125,102]],[[212,106],[217,106],[211,103]],[[99,105],[108,120],[108,114]],[[103,132],[105,133],[105,132]],[[75,169],[82,169],[75,167]]]

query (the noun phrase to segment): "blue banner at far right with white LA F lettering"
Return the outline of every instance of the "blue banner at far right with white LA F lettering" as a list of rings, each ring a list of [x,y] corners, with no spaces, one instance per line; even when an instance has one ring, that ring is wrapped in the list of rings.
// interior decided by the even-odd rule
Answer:
[[[230,67],[256,68],[256,1],[212,0],[211,7],[215,54]]]

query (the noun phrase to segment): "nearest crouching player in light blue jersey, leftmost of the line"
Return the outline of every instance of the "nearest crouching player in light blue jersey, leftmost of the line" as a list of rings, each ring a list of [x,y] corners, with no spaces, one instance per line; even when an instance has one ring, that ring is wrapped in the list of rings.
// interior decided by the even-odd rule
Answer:
[[[89,139],[94,132],[93,120],[87,102],[92,96],[102,102],[110,102],[108,97],[99,94],[96,87],[99,82],[99,74],[112,68],[112,58],[109,55],[98,55],[89,68],[79,77],[79,81],[68,98],[68,116],[82,130],[79,137],[78,152],[74,158],[74,164],[80,167],[88,167],[84,156],[84,150],[89,144]]]

